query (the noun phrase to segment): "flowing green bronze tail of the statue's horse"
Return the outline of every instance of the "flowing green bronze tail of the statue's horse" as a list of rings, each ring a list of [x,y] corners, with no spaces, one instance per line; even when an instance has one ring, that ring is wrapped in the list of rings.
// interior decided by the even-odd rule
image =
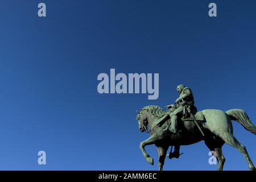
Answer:
[[[230,109],[225,112],[229,115],[230,119],[237,121],[240,123],[247,131],[250,131],[254,135],[256,135],[256,127],[250,121],[246,112],[242,109]]]

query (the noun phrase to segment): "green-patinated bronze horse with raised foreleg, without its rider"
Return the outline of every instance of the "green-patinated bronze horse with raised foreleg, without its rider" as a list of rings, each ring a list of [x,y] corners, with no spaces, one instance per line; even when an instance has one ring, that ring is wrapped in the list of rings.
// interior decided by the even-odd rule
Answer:
[[[245,111],[241,109],[231,109],[226,112],[216,109],[206,109],[201,111],[204,115],[205,121],[199,122],[201,129],[204,132],[203,136],[197,128],[195,122],[184,121],[179,122],[179,129],[181,132],[176,135],[172,133],[163,132],[163,126],[154,125],[154,122],[162,117],[166,111],[156,105],[145,106],[141,111],[137,111],[137,121],[139,123],[139,130],[141,132],[148,131],[149,127],[150,137],[139,145],[142,154],[148,163],[154,164],[154,160],[147,154],[145,146],[155,144],[158,149],[158,166],[159,170],[163,170],[164,159],[166,158],[167,150],[170,146],[182,146],[200,142],[204,140],[206,146],[210,151],[216,152],[218,161],[218,170],[222,170],[225,158],[222,154],[221,147],[226,142],[230,146],[237,148],[238,151],[245,157],[249,169],[255,171],[253,162],[248,155],[245,146],[243,146],[233,135],[233,126],[231,120],[239,122],[247,131],[256,135],[256,127],[250,121]]]

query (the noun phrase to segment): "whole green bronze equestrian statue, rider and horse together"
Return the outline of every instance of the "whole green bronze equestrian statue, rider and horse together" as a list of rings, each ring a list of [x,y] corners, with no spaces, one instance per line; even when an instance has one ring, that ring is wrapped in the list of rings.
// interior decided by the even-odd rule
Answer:
[[[230,109],[224,112],[217,109],[205,109],[197,112],[192,90],[185,85],[178,85],[177,92],[179,98],[174,105],[166,106],[167,111],[156,105],[145,106],[141,111],[137,111],[136,119],[139,123],[139,130],[150,133],[150,137],[139,145],[147,162],[154,164],[154,160],[144,148],[147,145],[155,144],[157,147],[158,166],[162,171],[170,146],[171,151],[167,155],[168,158],[179,158],[180,146],[204,140],[209,150],[216,153],[218,170],[222,171],[225,163],[221,148],[224,143],[228,143],[241,152],[249,169],[255,171],[254,163],[245,146],[238,142],[233,135],[231,120],[239,122],[247,131],[256,135],[256,127],[245,111]],[[174,146],[174,152],[172,152],[172,146]]]

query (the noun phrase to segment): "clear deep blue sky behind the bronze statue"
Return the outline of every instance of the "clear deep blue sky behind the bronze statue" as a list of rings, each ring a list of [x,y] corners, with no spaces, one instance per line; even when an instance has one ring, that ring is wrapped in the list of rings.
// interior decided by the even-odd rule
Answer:
[[[47,6],[39,18],[38,3]],[[144,160],[135,110],[165,106],[176,85],[199,110],[243,109],[256,121],[256,2],[1,1],[0,169],[156,170]],[[99,94],[97,75],[159,73],[159,98]],[[256,164],[255,136],[233,122]],[[38,151],[47,164],[39,166]],[[225,170],[247,170],[225,144]],[[165,170],[214,170],[204,142],[182,146]]]

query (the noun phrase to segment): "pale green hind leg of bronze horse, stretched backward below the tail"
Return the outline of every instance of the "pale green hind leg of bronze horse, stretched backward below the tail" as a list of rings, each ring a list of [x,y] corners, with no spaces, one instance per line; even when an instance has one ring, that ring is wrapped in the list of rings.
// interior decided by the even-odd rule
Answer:
[[[253,165],[253,162],[250,159],[250,156],[245,148],[238,140],[234,137],[231,133],[225,133],[220,136],[226,143],[228,143],[230,146],[237,148],[238,151],[245,157],[245,160],[248,164],[248,167],[251,171],[255,171],[255,167]]]

